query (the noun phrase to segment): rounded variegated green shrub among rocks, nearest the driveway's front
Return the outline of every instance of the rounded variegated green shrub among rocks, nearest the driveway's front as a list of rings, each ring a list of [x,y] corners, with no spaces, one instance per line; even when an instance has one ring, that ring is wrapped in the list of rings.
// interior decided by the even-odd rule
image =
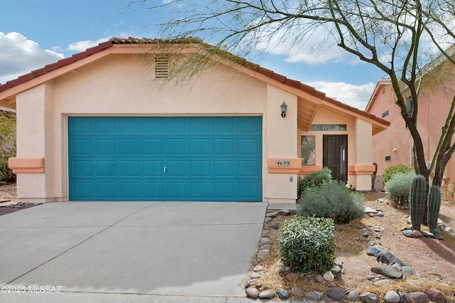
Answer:
[[[322,273],[335,260],[331,218],[297,217],[284,221],[279,252],[284,265],[294,272]]]

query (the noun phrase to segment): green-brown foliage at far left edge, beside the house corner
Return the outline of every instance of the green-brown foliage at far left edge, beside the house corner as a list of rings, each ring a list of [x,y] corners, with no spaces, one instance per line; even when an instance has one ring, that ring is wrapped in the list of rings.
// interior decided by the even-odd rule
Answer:
[[[8,159],[16,156],[16,115],[0,111],[0,179],[14,181],[16,175],[9,169]]]

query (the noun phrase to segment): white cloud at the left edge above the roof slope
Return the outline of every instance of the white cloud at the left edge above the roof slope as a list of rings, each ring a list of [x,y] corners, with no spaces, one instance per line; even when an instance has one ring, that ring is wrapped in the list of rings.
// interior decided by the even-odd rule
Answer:
[[[63,58],[63,54],[45,50],[20,33],[0,32],[0,83]]]

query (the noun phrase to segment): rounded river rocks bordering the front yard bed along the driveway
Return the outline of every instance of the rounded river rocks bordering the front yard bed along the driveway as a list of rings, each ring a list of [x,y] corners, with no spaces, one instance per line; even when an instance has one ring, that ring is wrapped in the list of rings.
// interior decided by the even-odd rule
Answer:
[[[292,286],[291,289],[284,289],[278,287],[276,290],[267,285],[259,285],[257,279],[261,277],[261,272],[264,270],[264,265],[261,262],[267,257],[267,254],[272,249],[273,243],[269,238],[269,228],[278,229],[279,223],[274,222],[274,218],[278,216],[290,216],[294,214],[295,211],[289,211],[287,209],[282,209],[279,211],[267,210],[264,218],[264,225],[262,229],[261,239],[257,247],[257,254],[255,256],[255,266],[248,274],[248,278],[245,282],[245,292],[248,298],[250,299],[260,299],[261,302],[268,300],[277,300],[283,301],[291,297],[304,298],[304,300],[292,300],[293,303],[314,303],[314,302],[363,302],[363,303],[411,303],[411,302],[436,302],[444,303],[446,302],[446,297],[444,293],[440,292],[438,289],[429,288],[426,292],[395,292],[393,290],[387,291],[386,294],[380,298],[378,294],[372,292],[362,292],[360,293],[357,289],[343,289],[339,287],[334,280],[336,280],[339,275],[344,271],[343,262],[336,260],[333,267],[330,271],[324,272],[320,275],[315,275],[314,280],[317,283],[326,282],[325,292],[319,292],[316,290],[301,289],[297,286]],[[335,232],[341,230],[334,230]],[[360,230],[362,233],[362,230]],[[404,262],[399,260],[392,253],[387,252],[382,249],[379,245],[373,241],[373,245],[370,245],[365,253],[369,256],[376,257],[378,261],[378,266],[372,267],[371,272],[366,277],[366,280],[370,281],[374,286],[380,287],[382,285],[387,285],[392,280],[403,280],[407,279],[408,283],[415,285],[422,285],[422,282],[419,282],[418,272],[405,265]],[[291,278],[295,277],[295,274],[291,272],[291,269],[287,266],[282,266],[279,268],[279,274],[285,277]],[[441,287],[448,287],[445,283],[440,284]],[[381,299],[381,300],[380,300]]]

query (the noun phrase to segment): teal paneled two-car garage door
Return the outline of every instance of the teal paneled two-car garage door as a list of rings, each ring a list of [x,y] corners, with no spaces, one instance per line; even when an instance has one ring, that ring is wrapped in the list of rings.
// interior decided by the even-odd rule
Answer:
[[[68,117],[70,201],[262,201],[262,117]]]

